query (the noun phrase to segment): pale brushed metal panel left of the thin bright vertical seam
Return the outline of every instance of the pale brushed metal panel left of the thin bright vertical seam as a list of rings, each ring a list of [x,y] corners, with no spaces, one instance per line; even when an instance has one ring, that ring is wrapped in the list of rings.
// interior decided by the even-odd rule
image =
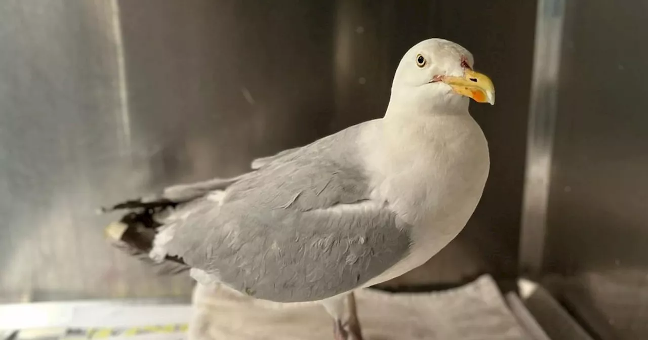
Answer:
[[[115,3],[17,0],[0,8],[0,294],[188,289],[181,278],[145,280],[150,273],[106,247],[99,228],[107,220],[95,216],[97,205],[143,188],[149,176],[124,116]]]

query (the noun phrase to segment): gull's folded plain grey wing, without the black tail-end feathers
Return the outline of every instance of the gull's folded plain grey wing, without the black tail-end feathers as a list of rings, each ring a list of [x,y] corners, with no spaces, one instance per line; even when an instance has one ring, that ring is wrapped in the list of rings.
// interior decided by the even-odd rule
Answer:
[[[313,144],[194,201],[165,250],[259,299],[321,300],[362,286],[408,254],[410,228],[369,199],[348,146]]]

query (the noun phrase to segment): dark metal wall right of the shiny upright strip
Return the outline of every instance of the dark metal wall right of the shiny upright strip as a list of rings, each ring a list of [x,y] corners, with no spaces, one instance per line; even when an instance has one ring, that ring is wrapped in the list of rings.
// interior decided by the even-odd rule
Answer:
[[[539,103],[555,122],[537,126],[553,143],[547,209],[527,206],[546,223],[527,225],[540,246],[522,257],[599,339],[647,339],[648,2],[542,2],[563,30],[555,102]]]

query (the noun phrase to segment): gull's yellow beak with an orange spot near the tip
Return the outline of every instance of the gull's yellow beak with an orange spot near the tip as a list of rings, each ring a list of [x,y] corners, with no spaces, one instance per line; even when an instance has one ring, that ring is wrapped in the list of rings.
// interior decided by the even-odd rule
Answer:
[[[495,87],[484,74],[467,69],[463,76],[445,76],[442,80],[452,91],[472,98],[479,103],[495,104]]]

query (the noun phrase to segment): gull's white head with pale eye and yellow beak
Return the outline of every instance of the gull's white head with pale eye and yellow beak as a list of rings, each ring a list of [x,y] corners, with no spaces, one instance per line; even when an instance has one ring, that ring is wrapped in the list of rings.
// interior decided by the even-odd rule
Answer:
[[[489,77],[472,69],[472,54],[457,43],[429,39],[414,45],[400,60],[392,84],[392,100],[426,103],[495,103]],[[396,97],[396,98],[395,98]]]

